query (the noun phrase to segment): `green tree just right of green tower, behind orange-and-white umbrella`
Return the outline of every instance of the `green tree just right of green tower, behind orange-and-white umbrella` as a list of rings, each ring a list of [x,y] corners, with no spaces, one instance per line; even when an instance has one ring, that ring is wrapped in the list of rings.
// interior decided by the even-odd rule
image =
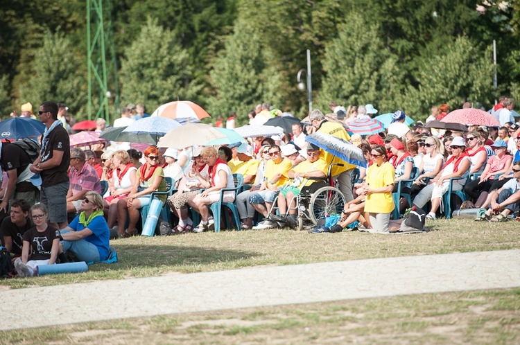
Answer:
[[[172,100],[192,100],[200,87],[191,81],[189,56],[170,30],[148,17],[121,64],[121,100],[144,103],[149,112]]]

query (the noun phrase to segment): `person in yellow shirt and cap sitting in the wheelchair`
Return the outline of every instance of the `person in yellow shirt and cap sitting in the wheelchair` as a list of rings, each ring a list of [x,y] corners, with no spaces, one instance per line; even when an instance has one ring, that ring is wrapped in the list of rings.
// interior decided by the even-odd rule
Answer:
[[[327,179],[328,165],[320,154],[320,148],[311,143],[307,146],[307,160],[289,170],[287,175],[293,179],[293,183],[282,189],[278,195],[279,216],[271,215],[274,220],[286,222],[289,227],[296,224],[296,196],[300,195],[302,188],[309,187],[311,191],[317,191],[324,186],[322,182],[315,179]],[[287,214],[288,208],[288,214]]]

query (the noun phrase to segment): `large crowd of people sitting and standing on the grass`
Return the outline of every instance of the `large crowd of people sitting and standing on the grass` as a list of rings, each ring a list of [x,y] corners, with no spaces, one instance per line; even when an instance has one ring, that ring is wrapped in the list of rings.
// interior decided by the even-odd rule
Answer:
[[[139,210],[153,200],[171,209],[173,217],[167,221],[173,233],[211,230],[221,222],[211,213],[218,200],[236,204],[241,229],[295,227],[297,195],[304,189],[313,193],[327,177],[343,193],[345,207],[337,224],[314,227],[311,233],[339,232],[345,227],[399,231],[402,224],[395,214],[412,206],[427,208],[426,218],[435,220],[442,214],[443,195],[450,184],[453,191],[467,193],[467,207],[487,209],[476,220],[502,222],[518,211],[520,126],[514,122],[511,99],[501,98],[490,112],[501,122],[499,128],[469,125],[465,132],[429,128],[429,121],[449,113],[447,105],[440,105],[432,107],[426,125],[417,121],[409,127],[406,115],[398,110],[387,130],[364,137],[349,135],[349,122],[372,118],[377,109],[371,104],[345,109],[336,102],[329,107],[329,114],[313,110],[284,136],[252,136],[216,147],[150,145],[136,150],[128,143],[71,148],[67,107],[46,101],[37,112],[45,125],[37,158],[31,159],[12,142],[1,143],[2,244],[12,254],[20,276],[32,276],[37,265],[103,261],[109,256],[111,233],[112,238],[135,235]],[[250,125],[292,116],[269,103],[258,105],[249,115]],[[33,116],[32,107],[22,106],[22,116]],[[142,105],[128,105],[114,127],[147,116]],[[106,122],[98,125],[101,131]],[[224,126],[223,118],[215,125]],[[225,125],[233,128],[236,114]],[[315,132],[356,145],[367,168],[306,141]],[[240,193],[227,190],[234,188],[235,174],[247,186]],[[175,193],[153,194],[167,191],[166,178],[173,181]],[[395,202],[392,194],[398,192],[409,199]],[[194,224],[195,219],[200,222]]]

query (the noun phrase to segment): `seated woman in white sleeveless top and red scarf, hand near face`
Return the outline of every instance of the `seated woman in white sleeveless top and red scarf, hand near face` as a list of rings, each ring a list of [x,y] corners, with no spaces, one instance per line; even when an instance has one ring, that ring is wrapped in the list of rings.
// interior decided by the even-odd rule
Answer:
[[[200,184],[207,189],[188,201],[188,204],[193,207],[195,211],[200,213],[202,218],[200,224],[193,229],[193,232],[196,233],[208,230],[208,206],[220,200],[220,189],[234,188],[235,186],[231,169],[229,169],[225,161],[218,157],[218,152],[215,148],[209,147],[202,149],[202,159],[207,161],[209,175],[206,178],[202,177],[197,168],[193,168],[193,172],[195,172],[198,177]],[[223,202],[234,202],[234,200],[234,191],[225,191],[223,193]],[[220,222],[220,220],[216,221]]]

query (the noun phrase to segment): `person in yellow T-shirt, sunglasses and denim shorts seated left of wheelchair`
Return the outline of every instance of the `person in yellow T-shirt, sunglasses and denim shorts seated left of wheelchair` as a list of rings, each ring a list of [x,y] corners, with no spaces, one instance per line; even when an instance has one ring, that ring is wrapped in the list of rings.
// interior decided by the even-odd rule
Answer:
[[[272,203],[275,202],[279,189],[288,182],[289,170],[293,168],[291,161],[281,157],[281,149],[278,145],[270,145],[269,155],[271,159],[266,163],[266,171],[263,173],[264,182],[261,183],[257,193],[253,193],[249,198],[249,203],[265,218]],[[253,230],[270,229],[275,226],[275,222],[264,220],[253,227]]]

